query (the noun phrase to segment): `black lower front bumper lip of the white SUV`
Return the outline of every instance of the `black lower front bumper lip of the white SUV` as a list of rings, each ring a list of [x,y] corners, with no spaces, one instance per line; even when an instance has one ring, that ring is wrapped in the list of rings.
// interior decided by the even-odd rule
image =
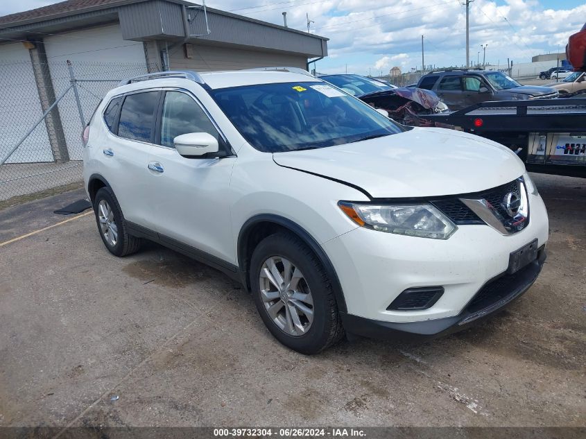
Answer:
[[[462,331],[501,311],[525,293],[540,274],[545,259],[543,246],[537,259],[528,266],[513,275],[502,273],[487,282],[458,316],[421,322],[384,322],[341,313],[344,329],[359,336],[400,341],[428,341]]]

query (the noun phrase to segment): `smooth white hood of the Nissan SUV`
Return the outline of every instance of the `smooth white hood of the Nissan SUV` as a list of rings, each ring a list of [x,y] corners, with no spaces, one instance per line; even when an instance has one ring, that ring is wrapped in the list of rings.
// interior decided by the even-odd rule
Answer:
[[[357,186],[371,198],[454,195],[518,178],[524,164],[494,141],[444,128],[273,154],[279,166]]]

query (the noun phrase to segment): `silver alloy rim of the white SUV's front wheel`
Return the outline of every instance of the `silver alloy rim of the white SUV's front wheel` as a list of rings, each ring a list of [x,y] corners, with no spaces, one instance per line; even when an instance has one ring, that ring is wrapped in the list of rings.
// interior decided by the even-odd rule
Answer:
[[[259,285],[275,325],[290,336],[307,334],[313,322],[313,296],[301,270],[284,257],[270,257],[261,266]]]

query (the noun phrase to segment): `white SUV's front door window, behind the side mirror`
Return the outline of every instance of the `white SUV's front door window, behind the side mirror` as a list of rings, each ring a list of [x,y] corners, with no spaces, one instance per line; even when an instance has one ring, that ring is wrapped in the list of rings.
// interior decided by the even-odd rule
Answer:
[[[218,130],[191,96],[181,92],[166,92],[161,139],[157,143],[173,148],[173,139],[188,132],[207,132],[220,141]]]

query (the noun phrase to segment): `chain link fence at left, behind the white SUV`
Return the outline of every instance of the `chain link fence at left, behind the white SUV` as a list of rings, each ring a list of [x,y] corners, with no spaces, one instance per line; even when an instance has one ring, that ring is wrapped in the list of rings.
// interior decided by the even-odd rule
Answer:
[[[0,63],[0,202],[82,180],[81,133],[119,80],[155,71],[124,63]]]

